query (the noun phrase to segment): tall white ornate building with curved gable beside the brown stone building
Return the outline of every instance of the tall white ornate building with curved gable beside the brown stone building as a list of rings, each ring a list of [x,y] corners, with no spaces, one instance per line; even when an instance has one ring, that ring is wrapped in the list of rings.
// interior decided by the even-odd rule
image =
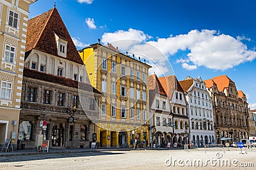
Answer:
[[[188,102],[189,139],[198,146],[214,143],[212,99],[201,77],[179,81]]]

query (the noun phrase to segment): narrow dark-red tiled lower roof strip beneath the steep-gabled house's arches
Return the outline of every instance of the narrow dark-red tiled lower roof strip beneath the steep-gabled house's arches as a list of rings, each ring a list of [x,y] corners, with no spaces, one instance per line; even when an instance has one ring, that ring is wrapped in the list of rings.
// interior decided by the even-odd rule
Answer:
[[[80,81],[72,80],[70,78],[65,78],[65,77],[61,77],[61,76],[55,76],[53,74],[43,73],[43,72],[36,71],[33,69],[28,69],[26,67],[24,67],[23,76],[28,77],[28,78],[33,78],[36,80],[42,80],[42,81],[47,81],[47,82],[51,82],[51,83],[56,83],[56,84],[63,85],[66,87],[74,87],[76,89],[79,88],[81,90],[86,90],[89,92],[101,94],[101,92],[99,92],[97,89],[92,87],[92,85],[89,85],[87,83],[82,83]]]

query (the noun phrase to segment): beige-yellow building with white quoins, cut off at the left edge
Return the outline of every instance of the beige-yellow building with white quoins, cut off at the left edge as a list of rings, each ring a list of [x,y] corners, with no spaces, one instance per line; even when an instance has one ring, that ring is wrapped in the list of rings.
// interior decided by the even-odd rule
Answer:
[[[0,145],[17,143],[29,4],[36,0],[0,0]]]

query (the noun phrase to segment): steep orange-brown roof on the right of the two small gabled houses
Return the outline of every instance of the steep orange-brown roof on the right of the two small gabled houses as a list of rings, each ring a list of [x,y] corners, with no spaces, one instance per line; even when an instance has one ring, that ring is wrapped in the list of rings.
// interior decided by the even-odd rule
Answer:
[[[174,90],[184,92],[175,75],[161,77],[159,78],[159,81],[161,82],[161,85],[163,86],[169,99],[172,99]]]

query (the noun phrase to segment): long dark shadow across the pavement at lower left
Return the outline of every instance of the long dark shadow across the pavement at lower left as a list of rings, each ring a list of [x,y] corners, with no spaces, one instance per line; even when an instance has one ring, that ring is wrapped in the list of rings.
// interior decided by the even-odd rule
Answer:
[[[17,155],[12,157],[0,157],[0,163],[2,162],[22,162],[29,160],[43,160],[43,159],[61,159],[61,158],[74,158],[74,157],[92,157],[99,155],[118,155],[125,153],[112,153],[112,152],[72,152],[72,153],[46,153],[38,155]],[[82,159],[77,159],[77,161]],[[76,161],[76,160],[74,160]]]

